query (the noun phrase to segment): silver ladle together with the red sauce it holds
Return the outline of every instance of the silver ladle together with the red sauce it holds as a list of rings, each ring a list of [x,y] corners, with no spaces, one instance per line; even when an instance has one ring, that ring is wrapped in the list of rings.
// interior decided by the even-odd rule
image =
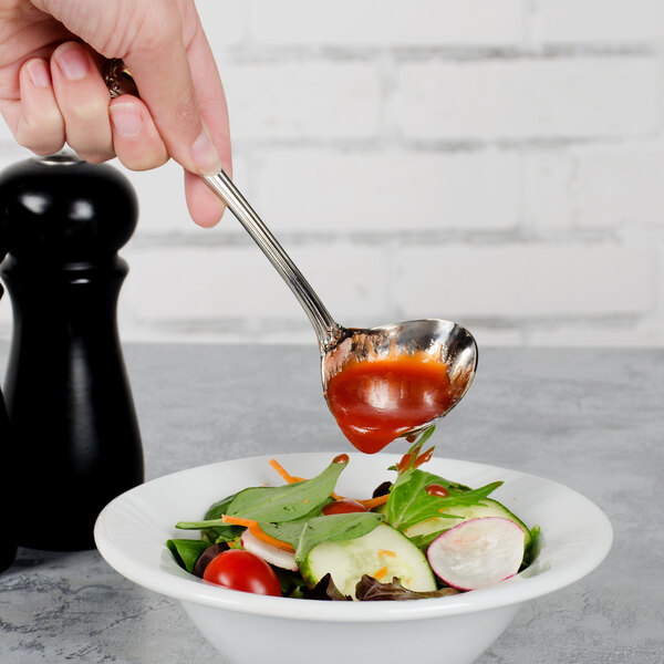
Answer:
[[[321,350],[323,393],[344,435],[374,453],[447,414],[466,394],[477,345],[460,325],[427,319],[346,329],[224,173],[201,176],[261,248],[307,312]]]

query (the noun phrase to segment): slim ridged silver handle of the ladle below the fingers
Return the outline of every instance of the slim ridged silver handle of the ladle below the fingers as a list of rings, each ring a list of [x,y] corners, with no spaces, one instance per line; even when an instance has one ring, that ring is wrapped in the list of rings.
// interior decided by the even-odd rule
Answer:
[[[334,340],[339,325],[304,279],[302,272],[224,170],[219,170],[215,175],[203,175],[201,177],[208,187],[226,203],[228,209],[237,217],[245,230],[253,238],[253,241],[288,283],[315,330],[321,351],[326,349]]]

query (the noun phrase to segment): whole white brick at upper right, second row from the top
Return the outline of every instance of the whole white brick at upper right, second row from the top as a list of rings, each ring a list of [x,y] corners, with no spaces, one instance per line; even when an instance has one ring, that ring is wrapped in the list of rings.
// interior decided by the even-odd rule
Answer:
[[[396,73],[396,123],[417,141],[580,138],[654,133],[650,58],[417,62]]]

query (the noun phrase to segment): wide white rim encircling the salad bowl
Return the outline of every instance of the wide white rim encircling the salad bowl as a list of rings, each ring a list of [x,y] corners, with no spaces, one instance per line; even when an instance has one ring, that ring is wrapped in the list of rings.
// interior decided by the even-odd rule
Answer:
[[[132,504],[136,501],[141,502],[142,494],[149,494],[151,490],[154,490],[155,487],[158,488],[159,485],[167,486],[168,483],[183,479],[188,475],[195,476],[196,474],[210,471],[216,468],[227,469],[239,461],[256,464],[257,466],[259,464],[267,465],[270,458],[278,458],[280,463],[290,466],[294,465],[291,461],[297,463],[297,459],[315,461],[320,458],[320,467],[323,468],[330,463],[334,454],[331,452],[276,453],[240,457],[195,466],[151,479],[116,497],[100,512],[94,526],[96,547],[106,562],[120,574],[143,588],[181,602],[279,619],[331,622],[384,622],[460,615],[533,600],[560,590],[592,572],[604,560],[613,542],[613,529],[606,515],[594,502],[574,489],[529,473],[437,456],[433,457],[432,461],[429,461],[429,467],[434,461],[435,465],[438,463],[460,464],[470,471],[490,471],[501,474],[506,477],[509,476],[506,485],[515,478],[523,478],[536,481],[539,486],[557,491],[561,496],[566,496],[584,515],[582,531],[588,540],[588,546],[581,549],[563,569],[547,569],[547,573],[536,573],[533,575],[528,575],[525,573],[527,570],[525,570],[525,572],[511,579],[471,592],[407,602],[324,602],[320,600],[274,598],[239,592],[206,583],[200,579],[190,577],[184,570],[181,570],[184,577],[179,577],[174,572],[163,569],[159,564],[148,566],[136,560],[134,557],[127,554],[123,546],[117,542],[118,537],[122,540],[115,525],[118,515],[122,513],[123,509],[132,506]],[[360,453],[349,453],[349,456],[351,463],[354,458],[367,458],[367,455]],[[380,453],[372,455],[371,458],[381,458],[385,463],[384,467],[386,468],[387,465],[398,461],[401,457],[402,455],[400,454]],[[207,506],[201,506],[201,509],[206,508]],[[549,544],[546,543],[546,537],[544,532],[544,543],[539,556],[550,552],[548,550]],[[163,552],[167,551],[165,540],[162,543],[164,544]],[[546,559],[542,562],[546,564]],[[176,563],[173,561],[173,564],[175,566]]]

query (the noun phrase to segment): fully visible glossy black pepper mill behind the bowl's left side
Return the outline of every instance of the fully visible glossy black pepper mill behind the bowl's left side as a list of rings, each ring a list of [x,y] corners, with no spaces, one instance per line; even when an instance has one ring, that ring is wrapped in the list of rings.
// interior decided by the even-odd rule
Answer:
[[[137,221],[124,176],[61,153],[0,176],[13,309],[4,383],[14,439],[12,525],[19,544],[94,547],[112,498],[143,481],[136,414],[117,333],[127,274],[117,250]]]

